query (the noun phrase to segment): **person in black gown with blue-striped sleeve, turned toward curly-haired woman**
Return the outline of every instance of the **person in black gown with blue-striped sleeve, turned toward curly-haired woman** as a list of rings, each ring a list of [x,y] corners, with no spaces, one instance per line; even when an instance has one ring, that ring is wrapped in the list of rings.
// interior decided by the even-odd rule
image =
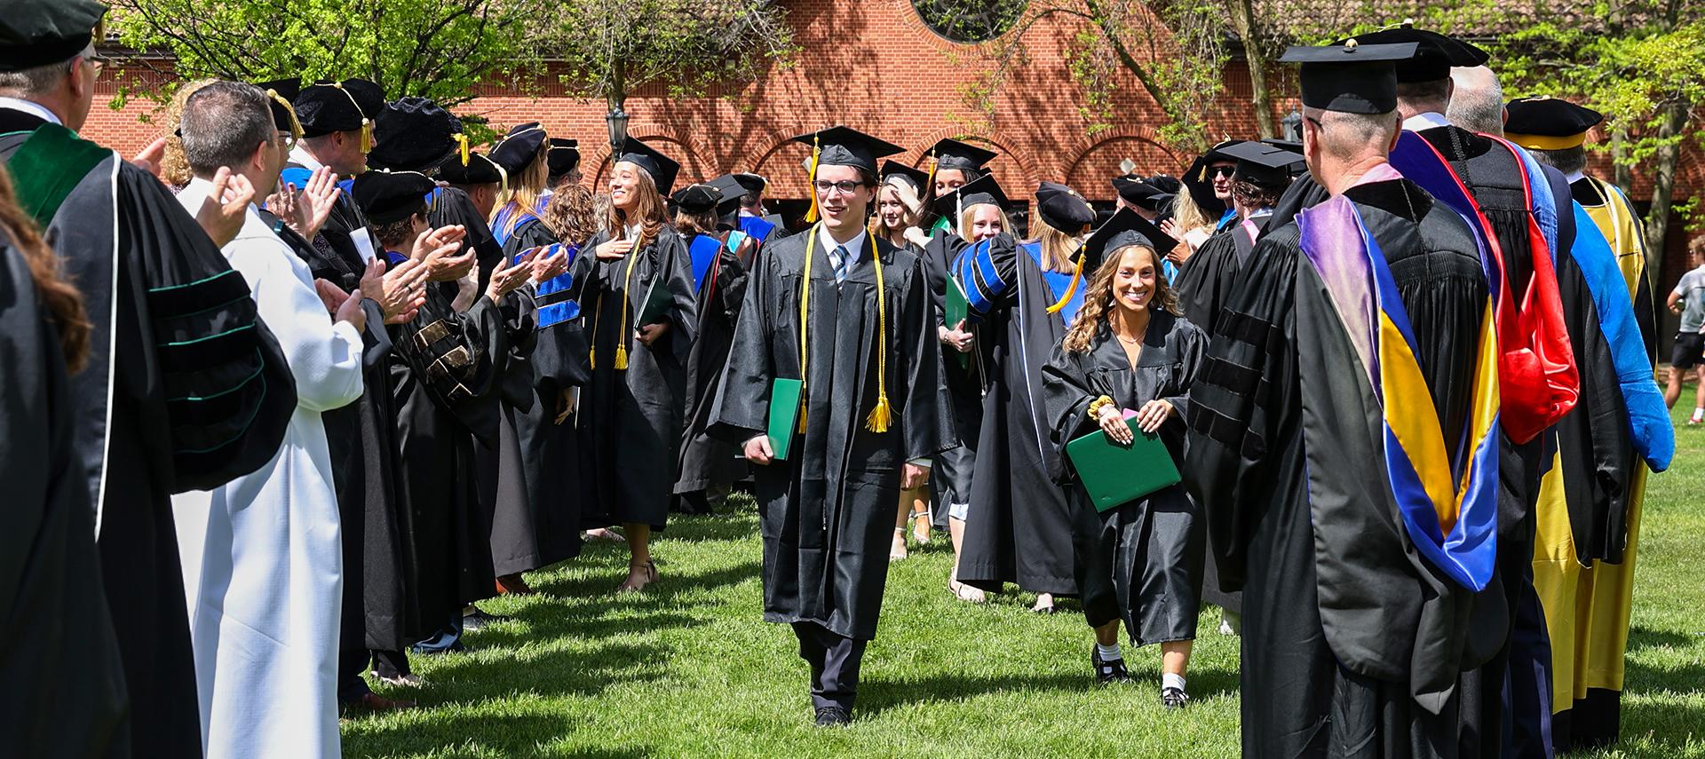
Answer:
[[[1035,218],[1035,240],[989,237],[953,264],[979,319],[989,377],[958,576],[991,592],[1016,583],[1037,594],[1035,611],[1052,612],[1054,595],[1079,588],[1072,507],[1049,476],[1059,471],[1059,450],[1049,443],[1042,367],[1083,305],[1086,275],[1076,256],[1095,210],[1064,184],[1042,183]]]

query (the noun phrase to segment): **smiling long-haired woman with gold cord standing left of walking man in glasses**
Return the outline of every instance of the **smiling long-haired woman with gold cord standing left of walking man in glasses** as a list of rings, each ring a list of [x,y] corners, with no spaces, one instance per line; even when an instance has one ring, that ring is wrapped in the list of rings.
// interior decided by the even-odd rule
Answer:
[[[624,525],[624,592],[656,582],[651,530],[668,520],[697,331],[692,259],[663,208],[679,171],[675,160],[629,138],[610,169],[605,230],[587,244],[597,266],[581,292],[592,322],[592,382],[580,420],[581,520]]]

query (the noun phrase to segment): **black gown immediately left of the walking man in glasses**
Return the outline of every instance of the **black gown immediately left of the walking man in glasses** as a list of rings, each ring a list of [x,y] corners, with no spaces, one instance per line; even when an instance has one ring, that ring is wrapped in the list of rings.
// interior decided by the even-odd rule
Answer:
[[[687,240],[691,246],[692,240]],[[697,295],[697,334],[687,353],[687,432],[680,443],[680,476],[675,493],[737,483],[748,476],[740,445],[709,437],[716,384],[728,363],[740,302],[745,300],[747,264],[728,246],[720,246],[716,263],[704,275]],[[685,507],[685,503],[684,503]]]

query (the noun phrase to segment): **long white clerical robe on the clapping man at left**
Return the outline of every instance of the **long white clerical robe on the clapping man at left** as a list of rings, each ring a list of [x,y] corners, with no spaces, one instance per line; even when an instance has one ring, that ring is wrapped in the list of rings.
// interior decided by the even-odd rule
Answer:
[[[196,179],[177,200],[193,215],[210,191]],[[210,759],[336,757],[343,548],[321,411],[361,397],[361,334],[252,206],[223,251],[285,350],[297,411],[266,466],[172,496],[201,740]]]

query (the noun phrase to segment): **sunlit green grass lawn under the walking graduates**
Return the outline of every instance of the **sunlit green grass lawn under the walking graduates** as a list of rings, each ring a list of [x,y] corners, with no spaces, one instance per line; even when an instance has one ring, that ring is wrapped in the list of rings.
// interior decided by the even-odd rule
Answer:
[[[1705,757],[1705,426],[1676,437],[1645,500],[1623,742],[1589,757]],[[380,692],[421,708],[344,720],[344,754],[1238,756],[1238,646],[1217,612],[1202,614],[1195,703],[1166,713],[1158,648],[1127,648],[1137,682],[1096,689],[1081,614],[948,595],[945,534],[888,571],[854,725],[815,728],[793,633],[760,621],[757,519],[748,500],[730,512],[675,519],[646,594],[610,594],[626,551],[598,542],[529,573],[537,595],[481,602],[515,621],[471,634],[476,652],[416,657],[428,686]]]

